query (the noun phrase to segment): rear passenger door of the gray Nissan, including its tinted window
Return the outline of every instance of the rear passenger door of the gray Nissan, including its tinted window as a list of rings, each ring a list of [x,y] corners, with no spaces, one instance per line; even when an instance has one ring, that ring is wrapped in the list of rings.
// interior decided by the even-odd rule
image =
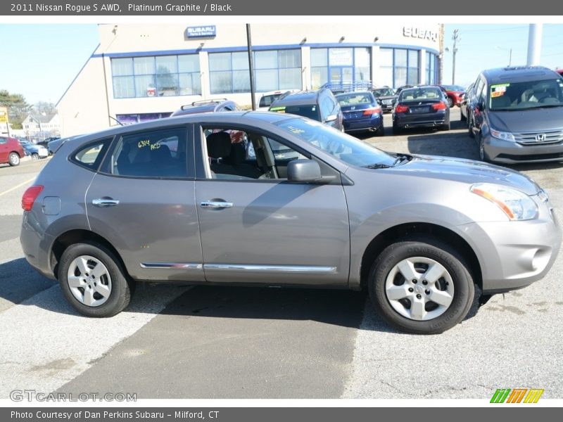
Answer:
[[[203,281],[191,126],[116,137],[86,193],[91,230],[140,280]]]

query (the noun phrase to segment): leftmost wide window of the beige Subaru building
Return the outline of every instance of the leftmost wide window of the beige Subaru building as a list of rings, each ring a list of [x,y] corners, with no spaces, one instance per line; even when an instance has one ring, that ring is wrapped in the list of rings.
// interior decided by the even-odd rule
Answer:
[[[199,55],[111,60],[114,98],[200,95]]]

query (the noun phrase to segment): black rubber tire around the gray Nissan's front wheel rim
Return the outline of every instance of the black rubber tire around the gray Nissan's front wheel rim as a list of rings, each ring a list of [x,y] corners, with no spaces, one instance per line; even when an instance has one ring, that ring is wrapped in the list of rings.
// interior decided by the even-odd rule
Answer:
[[[407,259],[411,259],[413,262],[417,260],[435,262],[439,264],[438,268],[445,270],[444,275],[441,275],[441,278],[438,278],[436,283],[426,282],[426,286],[423,286],[422,283],[425,281],[423,274],[429,274],[428,269],[431,267],[428,266],[424,270],[424,264],[419,263],[418,265],[422,267],[414,267],[417,268],[417,277],[420,276],[421,278],[419,283],[407,281],[403,274],[396,272],[398,271],[398,264]],[[428,273],[424,273],[424,271],[428,271]],[[395,275],[393,276],[393,274]],[[417,300],[427,301],[424,302],[424,314],[429,319],[415,319],[401,314],[400,312],[410,314],[412,311],[412,309],[408,308],[412,304],[409,299],[407,299],[407,302],[401,302],[405,299],[394,300],[394,305],[391,304],[386,288],[386,285],[390,286],[387,283],[388,277],[391,277],[391,288],[406,289],[407,286],[413,286],[414,288],[421,289],[421,291],[414,290],[414,293],[412,293],[413,300],[415,300],[416,295]],[[445,279],[451,281],[444,281]],[[403,284],[401,284],[401,281]],[[391,326],[398,328],[400,331],[413,334],[443,333],[443,331],[457,325],[469,312],[475,295],[472,276],[469,274],[462,257],[450,245],[426,236],[404,238],[385,248],[374,262],[369,273],[368,282],[369,298],[372,300],[378,314]],[[408,284],[405,285],[405,283]],[[450,295],[451,302],[447,307],[443,306],[445,309],[441,309],[440,305],[430,300],[434,294],[436,294],[434,297],[438,298],[438,295],[440,295],[438,290],[442,290],[442,288],[445,290],[445,293],[441,292],[442,294],[450,295],[448,290],[452,292]],[[405,291],[412,291],[410,289],[408,287],[408,290]],[[410,293],[406,294],[410,295]],[[429,309],[426,309],[426,307]],[[432,309],[433,307],[434,309]],[[438,316],[432,317],[431,312],[438,314]]]

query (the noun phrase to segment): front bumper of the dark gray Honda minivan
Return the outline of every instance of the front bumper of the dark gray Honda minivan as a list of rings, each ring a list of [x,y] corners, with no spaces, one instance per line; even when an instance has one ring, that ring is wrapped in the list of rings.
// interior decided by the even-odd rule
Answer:
[[[519,162],[563,161],[563,143],[521,145],[483,134],[485,153],[489,160],[517,164]]]

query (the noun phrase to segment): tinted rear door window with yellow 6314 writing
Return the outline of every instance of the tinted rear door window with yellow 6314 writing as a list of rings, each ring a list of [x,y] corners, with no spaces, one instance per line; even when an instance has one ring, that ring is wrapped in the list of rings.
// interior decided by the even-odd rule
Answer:
[[[110,173],[120,176],[187,177],[186,129],[161,129],[122,136],[113,151]]]

